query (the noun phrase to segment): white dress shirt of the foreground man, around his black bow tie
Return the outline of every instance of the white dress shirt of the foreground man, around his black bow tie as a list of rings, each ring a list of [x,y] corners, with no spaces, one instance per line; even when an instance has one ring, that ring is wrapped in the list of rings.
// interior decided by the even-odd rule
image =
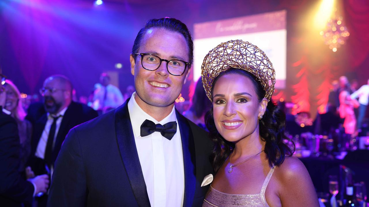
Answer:
[[[173,107],[172,112],[158,122],[138,106],[135,94],[132,94],[128,102],[128,111],[150,204],[152,207],[183,206],[183,154],[175,109]],[[160,132],[141,137],[141,124],[146,119],[162,125],[175,121],[177,132],[171,140],[163,137]]]

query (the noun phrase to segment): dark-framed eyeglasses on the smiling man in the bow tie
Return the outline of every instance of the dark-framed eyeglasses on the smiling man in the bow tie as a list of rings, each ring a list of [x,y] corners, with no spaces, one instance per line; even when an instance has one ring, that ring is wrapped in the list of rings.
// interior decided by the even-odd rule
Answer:
[[[146,70],[156,70],[160,67],[163,61],[166,62],[166,69],[173,76],[181,76],[186,67],[190,63],[184,62],[183,60],[166,60],[150,53],[136,53],[135,55],[141,55],[141,65]]]

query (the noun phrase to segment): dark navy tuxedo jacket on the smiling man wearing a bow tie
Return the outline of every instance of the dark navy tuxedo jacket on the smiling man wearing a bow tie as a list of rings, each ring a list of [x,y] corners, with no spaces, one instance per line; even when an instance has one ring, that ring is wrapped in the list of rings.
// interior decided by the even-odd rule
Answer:
[[[69,131],[55,162],[48,206],[150,206],[128,100]],[[176,111],[183,150],[183,206],[201,206],[213,173],[206,131]]]

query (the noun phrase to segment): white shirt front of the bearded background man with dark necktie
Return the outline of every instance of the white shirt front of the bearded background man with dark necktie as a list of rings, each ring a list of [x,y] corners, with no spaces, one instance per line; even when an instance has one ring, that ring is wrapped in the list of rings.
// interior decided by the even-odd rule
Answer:
[[[64,113],[67,109],[68,109],[68,107],[65,107],[63,110],[61,110],[56,115],[51,115],[50,113],[47,113],[47,121],[46,121],[46,124],[45,124],[45,128],[44,128],[44,131],[42,131],[41,138],[40,138],[40,140],[38,141],[38,144],[37,144],[37,148],[36,148],[36,152],[35,152],[36,157],[39,157],[41,159],[45,159],[46,144],[47,144],[47,140],[49,138],[49,132],[50,132],[51,124],[54,121],[54,117],[58,117],[58,116],[61,115],[61,117],[59,117],[56,120],[55,136],[54,136],[54,141],[52,143],[52,148],[54,148],[56,136],[58,135],[60,124],[62,123]]]

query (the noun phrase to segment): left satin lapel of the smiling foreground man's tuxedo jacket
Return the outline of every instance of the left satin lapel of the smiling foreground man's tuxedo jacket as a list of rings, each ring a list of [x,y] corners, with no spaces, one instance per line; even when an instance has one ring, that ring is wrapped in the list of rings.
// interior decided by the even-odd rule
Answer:
[[[129,99],[115,110],[115,133],[125,171],[127,171],[136,201],[139,206],[146,207],[150,206],[150,200],[138,158],[130,113],[128,112],[128,101]]]

